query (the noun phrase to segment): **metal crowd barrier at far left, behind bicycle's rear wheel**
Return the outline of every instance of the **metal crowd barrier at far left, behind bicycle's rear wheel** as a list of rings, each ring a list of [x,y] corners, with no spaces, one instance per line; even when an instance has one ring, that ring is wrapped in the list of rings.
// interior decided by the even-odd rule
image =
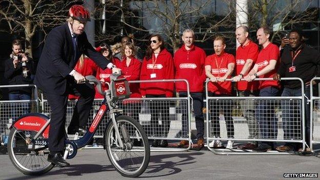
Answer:
[[[0,135],[3,142],[6,141],[5,135],[9,135],[9,128],[17,117],[29,112],[39,112],[38,91],[35,85],[3,85],[0,86],[0,89],[12,87],[33,88],[34,98],[30,100],[0,101]]]

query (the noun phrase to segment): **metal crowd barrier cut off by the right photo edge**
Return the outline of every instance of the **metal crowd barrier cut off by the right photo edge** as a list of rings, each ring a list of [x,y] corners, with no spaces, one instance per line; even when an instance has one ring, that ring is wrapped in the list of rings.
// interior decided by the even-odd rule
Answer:
[[[320,80],[320,77],[312,78],[310,85],[316,80]],[[320,93],[314,96],[313,86],[310,86],[310,149],[312,151],[313,144],[320,144]]]

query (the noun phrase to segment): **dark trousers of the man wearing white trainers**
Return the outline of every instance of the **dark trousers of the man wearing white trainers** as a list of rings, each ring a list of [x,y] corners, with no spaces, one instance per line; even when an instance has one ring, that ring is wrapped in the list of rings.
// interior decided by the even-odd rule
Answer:
[[[208,92],[209,96],[214,96],[214,97],[226,97],[230,96],[228,94],[215,94],[214,92]],[[224,118],[227,126],[227,135],[228,138],[233,138],[234,136],[234,126],[233,126],[233,121],[232,121],[232,116],[231,112],[233,109],[233,103],[230,100],[223,100],[223,101],[212,101],[212,106],[210,106],[210,115],[209,119],[211,121],[211,128],[213,128],[213,131],[211,132],[211,136],[215,137],[220,137],[220,124],[219,124],[219,115],[221,110],[223,110],[224,113]]]

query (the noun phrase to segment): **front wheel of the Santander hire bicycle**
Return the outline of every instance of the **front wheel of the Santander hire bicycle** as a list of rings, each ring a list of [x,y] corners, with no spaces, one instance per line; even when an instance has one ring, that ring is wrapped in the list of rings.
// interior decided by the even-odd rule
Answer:
[[[142,126],[129,116],[118,116],[116,122],[124,147],[120,147],[114,125],[110,122],[105,132],[108,158],[121,175],[137,177],[145,172],[150,160],[147,135]]]

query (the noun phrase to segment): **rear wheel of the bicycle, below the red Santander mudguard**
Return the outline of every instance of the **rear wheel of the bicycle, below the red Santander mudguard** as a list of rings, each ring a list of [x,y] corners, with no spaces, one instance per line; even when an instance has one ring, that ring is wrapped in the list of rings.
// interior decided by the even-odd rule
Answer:
[[[39,175],[50,171],[54,165],[47,161],[49,154],[47,141],[40,135],[38,145],[31,142],[36,131],[16,130],[9,134],[8,153],[12,164],[22,173]]]

